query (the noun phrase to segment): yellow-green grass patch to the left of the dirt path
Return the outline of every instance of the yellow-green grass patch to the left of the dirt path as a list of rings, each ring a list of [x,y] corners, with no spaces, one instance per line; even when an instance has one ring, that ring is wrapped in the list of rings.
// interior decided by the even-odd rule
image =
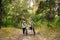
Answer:
[[[7,27],[1,28],[0,30],[0,40],[12,40],[12,38],[17,35],[20,29]],[[16,33],[15,33],[16,32]]]

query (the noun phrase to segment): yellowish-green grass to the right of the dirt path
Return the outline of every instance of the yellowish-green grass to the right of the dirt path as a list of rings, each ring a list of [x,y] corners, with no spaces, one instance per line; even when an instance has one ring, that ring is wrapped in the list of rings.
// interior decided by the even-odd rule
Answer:
[[[60,28],[59,27],[47,27],[41,25],[37,28],[38,34],[46,38],[46,40],[60,40]]]

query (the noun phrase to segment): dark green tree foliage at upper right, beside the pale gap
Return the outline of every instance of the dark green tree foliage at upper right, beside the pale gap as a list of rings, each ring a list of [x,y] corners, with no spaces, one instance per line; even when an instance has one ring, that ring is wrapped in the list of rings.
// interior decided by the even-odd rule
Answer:
[[[45,19],[47,19],[48,21],[53,21],[55,17],[55,11],[52,9],[54,7],[55,7],[54,0],[41,1],[39,3],[39,7],[38,10],[36,11],[36,14],[45,13]],[[45,10],[46,12],[44,12]]]

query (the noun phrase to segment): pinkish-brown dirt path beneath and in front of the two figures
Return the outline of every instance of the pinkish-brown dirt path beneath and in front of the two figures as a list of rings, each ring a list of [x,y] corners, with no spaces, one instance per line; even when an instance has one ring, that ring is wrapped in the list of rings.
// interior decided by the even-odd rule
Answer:
[[[23,35],[22,31],[19,33],[17,40],[46,40],[39,34],[33,35],[32,31],[28,31],[28,35]]]

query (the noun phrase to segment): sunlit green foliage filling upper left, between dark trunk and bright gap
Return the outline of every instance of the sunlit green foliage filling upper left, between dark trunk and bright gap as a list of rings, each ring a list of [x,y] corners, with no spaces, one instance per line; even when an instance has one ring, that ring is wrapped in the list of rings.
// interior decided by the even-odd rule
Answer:
[[[21,0],[3,0],[2,3],[5,10],[5,16],[2,18],[3,26],[18,26],[22,21],[29,18],[27,0],[22,2]]]

